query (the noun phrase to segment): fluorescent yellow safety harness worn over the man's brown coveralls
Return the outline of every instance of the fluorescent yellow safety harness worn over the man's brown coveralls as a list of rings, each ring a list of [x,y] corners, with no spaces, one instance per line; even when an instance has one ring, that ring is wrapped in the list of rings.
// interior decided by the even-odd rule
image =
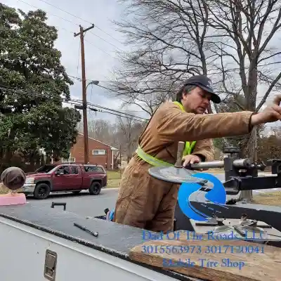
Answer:
[[[178,105],[181,110],[185,111],[183,108],[183,105],[181,103],[178,103],[177,101],[173,102],[175,105]],[[183,156],[185,155],[190,155],[192,153],[193,148],[195,147],[196,141],[192,141],[191,145],[189,141],[185,142],[185,149],[183,150]],[[152,166],[174,166],[174,164],[170,164],[167,162],[164,162],[160,159],[157,159],[155,157],[152,157],[150,155],[148,155],[147,153],[145,153],[141,146],[138,145],[138,148],[136,150],[136,154],[138,155],[138,157],[141,157],[141,159],[143,159],[143,161],[147,162],[148,164],[152,165]]]

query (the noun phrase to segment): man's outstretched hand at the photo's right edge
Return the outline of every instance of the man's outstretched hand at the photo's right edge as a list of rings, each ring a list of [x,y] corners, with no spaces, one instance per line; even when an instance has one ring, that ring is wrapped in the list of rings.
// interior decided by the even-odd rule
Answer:
[[[281,120],[281,94],[275,96],[273,103],[268,105],[262,112],[251,116],[251,125],[256,126]]]

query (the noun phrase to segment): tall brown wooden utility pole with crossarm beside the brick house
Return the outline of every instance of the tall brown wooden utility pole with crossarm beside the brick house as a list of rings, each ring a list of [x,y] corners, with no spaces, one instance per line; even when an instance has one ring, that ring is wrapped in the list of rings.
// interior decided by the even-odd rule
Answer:
[[[84,164],[89,163],[89,143],[88,143],[88,120],[87,120],[87,96],[86,96],[86,74],[85,74],[85,52],[84,52],[84,33],[91,30],[94,25],[84,30],[81,25],[80,32],[74,33],[74,37],[80,35],[81,41],[81,67],[82,67],[82,100],[83,100],[83,125],[84,125]]]

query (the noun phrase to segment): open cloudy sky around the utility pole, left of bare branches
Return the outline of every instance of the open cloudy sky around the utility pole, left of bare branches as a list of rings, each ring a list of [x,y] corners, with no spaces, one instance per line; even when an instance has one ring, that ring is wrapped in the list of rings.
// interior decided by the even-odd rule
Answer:
[[[120,19],[124,9],[122,5],[117,4],[117,1],[4,0],[1,2],[13,8],[20,8],[25,12],[38,8],[46,11],[48,25],[53,25],[58,29],[58,40],[55,42],[55,48],[62,52],[61,62],[65,66],[67,74],[73,77],[81,78],[80,39],[74,37],[74,32],[79,32],[79,25],[84,28],[90,27],[91,23],[96,25],[92,30],[86,32],[85,36],[86,79],[98,80],[100,86],[107,86],[106,81],[109,81],[110,72],[118,63],[115,52],[126,49],[122,44],[124,41],[122,34],[115,30],[116,27],[112,23],[112,20]],[[71,79],[74,81],[74,85],[70,87],[71,96],[81,100],[81,81],[72,77]],[[90,103],[115,110],[119,110],[122,104],[122,100],[113,99],[109,96],[108,91],[99,86],[89,85],[87,99]],[[137,106],[130,107],[129,110],[132,115],[147,117],[144,112],[140,112],[140,108]],[[125,111],[122,110],[122,112]],[[105,118],[114,122],[116,116],[105,112],[97,112],[97,114],[89,112],[88,118]]]

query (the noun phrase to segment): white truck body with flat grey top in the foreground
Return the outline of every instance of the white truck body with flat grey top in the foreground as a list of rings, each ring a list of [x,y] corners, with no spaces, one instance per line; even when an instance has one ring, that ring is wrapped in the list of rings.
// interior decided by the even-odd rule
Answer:
[[[75,227],[74,223],[98,232],[98,237],[93,237]],[[96,277],[117,280],[118,276],[122,277],[122,280],[132,280],[133,277],[133,280],[202,281],[173,270],[162,270],[129,259],[129,251],[144,242],[143,230],[139,228],[122,226],[98,218],[87,219],[63,211],[60,207],[52,209],[51,206],[37,207],[31,204],[0,207],[0,225],[1,253],[7,257],[0,266],[1,277],[4,280],[18,280],[15,277],[17,274],[15,270],[8,268],[8,257],[11,256],[10,260],[13,261],[15,255],[18,261],[13,261],[13,264],[17,264],[18,276],[21,276],[22,280],[46,280],[43,275],[45,252],[46,249],[51,251],[55,249],[58,251],[55,280],[59,281],[77,280],[75,276],[76,278],[80,276],[80,279],[85,281],[97,279]],[[12,229],[14,231],[11,231]],[[64,248],[58,248],[58,244]],[[34,253],[37,251],[37,256],[35,253],[35,256],[30,257],[32,251]],[[101,258],[89,258],[95,256],[97,252]],[[86,256],[89,259],[84,261]],[[99,265],[98,260],[103,260],[104,263]],[[123,270],[122,273],[120,270]]]

